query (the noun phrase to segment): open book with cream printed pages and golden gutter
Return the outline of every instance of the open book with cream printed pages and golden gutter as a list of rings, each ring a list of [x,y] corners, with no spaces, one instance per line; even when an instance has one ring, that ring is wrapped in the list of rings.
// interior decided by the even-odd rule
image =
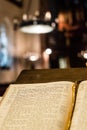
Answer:
[[[0,130],[86,130],[87,81],[13,84],[0,103]]]

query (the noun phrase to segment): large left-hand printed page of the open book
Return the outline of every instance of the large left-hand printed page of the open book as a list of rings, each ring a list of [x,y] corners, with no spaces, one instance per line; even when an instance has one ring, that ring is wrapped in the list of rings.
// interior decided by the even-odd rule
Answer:
[[[72,82],[11,85],[0,105],[0,130],[65,130]]]

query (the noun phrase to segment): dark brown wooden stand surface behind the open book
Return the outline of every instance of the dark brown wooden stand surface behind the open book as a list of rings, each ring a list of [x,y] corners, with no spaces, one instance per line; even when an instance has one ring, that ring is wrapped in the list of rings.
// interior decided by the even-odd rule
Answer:
[[[87,80],[87,68],[23,70],[16,83]]]

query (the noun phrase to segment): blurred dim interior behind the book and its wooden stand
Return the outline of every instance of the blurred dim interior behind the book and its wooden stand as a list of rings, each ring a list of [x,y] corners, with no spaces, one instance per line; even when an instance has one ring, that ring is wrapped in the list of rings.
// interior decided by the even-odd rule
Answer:
[[[45,31],[21,29],[37,24]],[[1,85],[23,69],[71,67],[87,67],[87,0],[0,0]]]

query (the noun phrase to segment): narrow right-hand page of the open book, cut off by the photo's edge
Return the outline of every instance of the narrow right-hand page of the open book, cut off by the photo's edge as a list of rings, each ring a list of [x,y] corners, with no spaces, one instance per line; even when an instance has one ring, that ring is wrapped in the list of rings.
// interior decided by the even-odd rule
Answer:
[[[87,130],[87,81],[79,85],[70,130]]]

